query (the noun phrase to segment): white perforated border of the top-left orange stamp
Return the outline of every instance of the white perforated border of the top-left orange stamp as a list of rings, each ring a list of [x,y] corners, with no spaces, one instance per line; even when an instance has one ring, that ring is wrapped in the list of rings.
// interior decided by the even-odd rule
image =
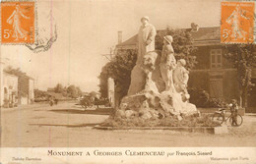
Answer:
[[[37,29],[37,2],[36,0],[0,0],[0,18],[2,18],[2,2],[34,2],[34,21],[33,21],[33,26],[34,26],[34,38],[33,38],[33,43],[36,42],[37,40],[37,35],[38,35],[38,29]],[[15,43],[15,42],[9,42],[9,43],[3,43],[2,42],[2,23],[0,22],[0,44],[2,45],[26,45],[26,44],[33,44],[33,43],[27,43],[27,42],[22,42],[22,43]]]

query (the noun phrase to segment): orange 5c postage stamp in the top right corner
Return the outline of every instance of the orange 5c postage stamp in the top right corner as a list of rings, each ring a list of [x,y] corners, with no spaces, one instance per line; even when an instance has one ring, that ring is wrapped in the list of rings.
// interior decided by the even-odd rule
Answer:
[[[254,2],[222,2],[221,41],[253,43]]]

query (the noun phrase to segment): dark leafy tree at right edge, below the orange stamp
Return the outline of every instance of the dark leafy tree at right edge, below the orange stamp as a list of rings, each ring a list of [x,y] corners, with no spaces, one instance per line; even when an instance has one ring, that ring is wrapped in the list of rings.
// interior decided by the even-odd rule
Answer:
[[[253,44],[230,44],[225,46],[224,57],[230,61],[237,71],[239,83],[240,105],[247,107],[247,95],[254,83],[251,82],[252,68],[256,67],[256,47]]]

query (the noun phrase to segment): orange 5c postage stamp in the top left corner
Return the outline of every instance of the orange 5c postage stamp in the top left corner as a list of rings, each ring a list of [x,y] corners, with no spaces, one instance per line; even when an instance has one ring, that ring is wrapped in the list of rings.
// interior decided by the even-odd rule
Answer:
[[[1,2],[1,43],[34,42],[34,2]]]

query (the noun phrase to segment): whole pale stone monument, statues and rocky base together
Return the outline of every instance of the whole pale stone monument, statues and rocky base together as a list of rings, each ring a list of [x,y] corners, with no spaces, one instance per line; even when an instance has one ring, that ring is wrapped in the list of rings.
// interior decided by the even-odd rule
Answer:
[[[156,29],[149,20],[148,17],[141,19],[137,62],[128,95],[121,100],[116,115],[143,119],[174,116],[180,120],[183,116],[199,114],[196,106],[189,103],[189,72],[184,68],[185,60],[176,62],[170,35],[163,37],[161,53],[155,51]]]

